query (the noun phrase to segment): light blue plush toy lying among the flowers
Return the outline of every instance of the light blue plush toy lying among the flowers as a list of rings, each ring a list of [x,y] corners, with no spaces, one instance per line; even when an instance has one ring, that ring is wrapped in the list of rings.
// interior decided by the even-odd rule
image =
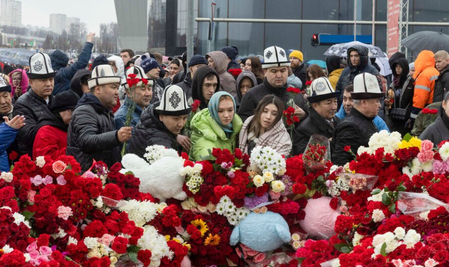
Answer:
[[[265,252],[277,249],[290,239],[289,225],[282,216],[273,212],[251,212],[232,231],[230,244],[242,242],[253,250]]]

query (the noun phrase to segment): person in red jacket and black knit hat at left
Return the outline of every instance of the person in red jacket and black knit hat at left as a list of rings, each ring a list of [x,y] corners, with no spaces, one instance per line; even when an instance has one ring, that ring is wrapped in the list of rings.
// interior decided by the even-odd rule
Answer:
[[[42,116],[38,122],[33,144],[34,159],[39,156],[57,159],[66,155],[67,129],[79,99],[79,96],[70,90],[53,97],[50,104],[52,114]]]

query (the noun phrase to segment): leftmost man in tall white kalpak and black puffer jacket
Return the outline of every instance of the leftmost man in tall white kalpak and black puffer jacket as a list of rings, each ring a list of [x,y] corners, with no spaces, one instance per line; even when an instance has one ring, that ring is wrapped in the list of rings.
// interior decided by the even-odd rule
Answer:
[[[51,68],[50,57],[45,53],[35,53],[30,57],[28,73],[31,89],[17,99],[13,116],[24,115],[26,124],[17,133],[16,141],[19,155],[28,154],[31,158],[37,121],[45,114],[51,114],[49,105],[53,98],[56,72]]]

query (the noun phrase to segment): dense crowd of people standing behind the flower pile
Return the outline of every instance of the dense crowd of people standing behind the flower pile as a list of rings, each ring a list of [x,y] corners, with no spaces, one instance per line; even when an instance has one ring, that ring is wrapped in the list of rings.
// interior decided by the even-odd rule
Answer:
[[[312,135],[328,138],[332,162],[344,165],[352,160],[345,148],[357,152],[380,130],[434,144],[449,139],[446,51],[423,50],[411,63],[397,52],[389,58],[392,77],[383,77],[362,45],[347,57],[327,56],[326,69],[278,46],[266,48],[262,60],[238,60],[238,48],[225,46],[189,60],[186,53],[163,62],[159,53],[123,49],[89,62],[93,37],[70,65],[57,49],[32,55],[29,71],[0,75],[1,171],[16,152],[72,155],[83,171],[94,161],[110,167],[121,161],[123,146],[144,157],[148,146],[161,145],[195,161],[213,148],[250,154],[256,146],[288,157],[304,153]],[[133,90],[130,77],[139,81]],[[292,97],[289,87],[300,93]],[[288,127],[287,108],[297,118]]]

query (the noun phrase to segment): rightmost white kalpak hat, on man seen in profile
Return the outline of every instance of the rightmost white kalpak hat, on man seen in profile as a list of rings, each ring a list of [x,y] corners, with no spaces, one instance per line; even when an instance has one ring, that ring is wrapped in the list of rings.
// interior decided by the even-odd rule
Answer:
[[[354,78],[353,99],[381,98],[384,94],[380,90],[377,78],[370,73],[361,73]]]

